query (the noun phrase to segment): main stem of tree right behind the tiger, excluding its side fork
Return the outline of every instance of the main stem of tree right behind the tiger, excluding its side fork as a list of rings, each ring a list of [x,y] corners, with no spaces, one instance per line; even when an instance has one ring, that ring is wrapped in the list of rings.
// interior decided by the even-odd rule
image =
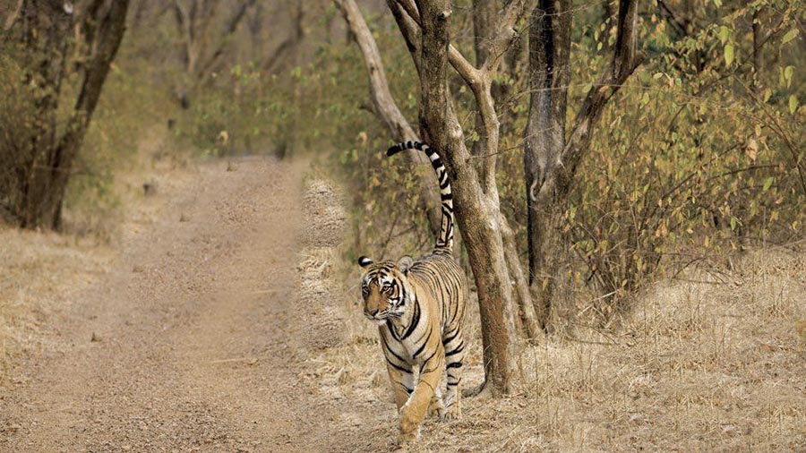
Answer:
[[[503,252],[497,192],[485,193],[476,168],[467,163],[470,153],[448,92],[450,2],[417,2],[417,9],[422,24],[421,123],[451,175],[456,218],[478,290],[487,388],[493,394],[510,393],[515,377],[516,350],[511,341],[515,331],[514,304]],[[489,88],[489,80],[486,82]],[[494,135],[497,138],[497,133]]]

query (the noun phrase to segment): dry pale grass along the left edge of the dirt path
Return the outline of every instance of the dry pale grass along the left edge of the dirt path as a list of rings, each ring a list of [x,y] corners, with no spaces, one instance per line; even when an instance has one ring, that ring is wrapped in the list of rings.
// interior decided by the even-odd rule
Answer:
[[[67,203],[64,234],[0,224],[0,382],[15,358],[53,338],[45,335],[49,317],[109,269],[121,243],[157,221],[167,205],[159,193],[194,177],[189,155],[176,150],[164,127],[153,126],[116,173],[112,198],[119,204]],[[146,196],[144,183],[156,186],[157,196]]]

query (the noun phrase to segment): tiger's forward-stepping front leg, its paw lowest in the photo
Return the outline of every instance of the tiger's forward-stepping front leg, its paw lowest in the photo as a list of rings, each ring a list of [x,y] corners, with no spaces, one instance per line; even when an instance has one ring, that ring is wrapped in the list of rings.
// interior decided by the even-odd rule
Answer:
[[[423,363],[414,392],[408,397],[405,405],[400,407],[400,443],[416,440],[420,435],[420,425],[423,423],[425,413],[445,368],[445,358],[442,353],[442,344],[438,350],[425,363]]]

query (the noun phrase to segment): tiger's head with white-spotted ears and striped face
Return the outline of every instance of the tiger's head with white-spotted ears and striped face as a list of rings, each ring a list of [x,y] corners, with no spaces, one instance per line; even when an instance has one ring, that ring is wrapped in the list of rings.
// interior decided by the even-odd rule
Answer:
[[[413,262],[410,256],[404,256],[398,262],[376,263],[365,256],[358,259],[358,264],[364,268],[361,297],[367,319],[380,326],[387,320],[403,316],[413,294],[407,279]]]

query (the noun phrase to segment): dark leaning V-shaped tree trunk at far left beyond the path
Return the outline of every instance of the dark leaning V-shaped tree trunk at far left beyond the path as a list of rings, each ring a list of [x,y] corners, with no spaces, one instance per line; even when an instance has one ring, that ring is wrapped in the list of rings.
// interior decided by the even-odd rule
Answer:
[[[22,4],[22,45],[30,53],[23,81],[36,81],[34,127],[30,130],[30,158],[20,169],[21,199],[15,207],[22,227],[59,228],[64,192],[73,160],[98,105],[109,65],[115,58],[125,29],[128,0],[90,0],[73,13],[61,3],[27,0]],[[76,38],[78,61],[68,61],[69,39]],[[74,64],[79,74],[78,97],[64,133],[56,134],[56,115],[62,82]]]

